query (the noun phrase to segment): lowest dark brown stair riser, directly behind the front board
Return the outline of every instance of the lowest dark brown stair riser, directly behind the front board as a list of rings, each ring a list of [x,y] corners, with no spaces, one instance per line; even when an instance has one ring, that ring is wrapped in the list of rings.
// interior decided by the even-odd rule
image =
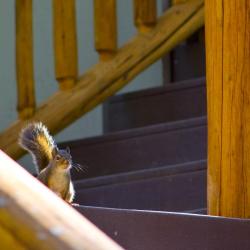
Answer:
[[[206,207],[206,170],[76,188],[76,203],[86,206],[189,211]]]

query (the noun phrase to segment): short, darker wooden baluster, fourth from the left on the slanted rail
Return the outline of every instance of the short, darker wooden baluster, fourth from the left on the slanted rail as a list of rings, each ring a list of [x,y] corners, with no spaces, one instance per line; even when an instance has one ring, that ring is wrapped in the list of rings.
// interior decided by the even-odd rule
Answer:
[[[148,32],[155,26],[156,7],[156,0],[134,0],[134,24],[139,32]]]

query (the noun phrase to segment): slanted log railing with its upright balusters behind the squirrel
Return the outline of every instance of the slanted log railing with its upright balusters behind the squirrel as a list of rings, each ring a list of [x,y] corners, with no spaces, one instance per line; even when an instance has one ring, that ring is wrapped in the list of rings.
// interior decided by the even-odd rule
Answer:
[[[156,18],[155,0],[135,0],[134,23],[139,33],[117,48],[116,1],[95,0],[94,14],[95,47],[100,62],[79,77],[75,2],[53,0],[55,75],[59,90],[36,107],[32,0],[16,0],[19,119],[0,135],[0,148],[11,157],[17,159],[24,153],[17,139],[26,122],[40,120],[52,133],[62,130],[204,25],[203,0],[175,3],[160,18]]]

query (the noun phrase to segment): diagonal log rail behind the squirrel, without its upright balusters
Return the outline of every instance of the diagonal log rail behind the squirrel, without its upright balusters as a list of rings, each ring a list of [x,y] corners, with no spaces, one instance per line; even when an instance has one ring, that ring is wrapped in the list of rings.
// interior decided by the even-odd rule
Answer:
[[[59,91],[51,96],[37,109],[32,120],[42,121],[51,133],[62,130],[125,86],[203,24],[202,0],[170,8],[151,32],[136,36],[111,61],[95,65],[72,90]],[[17,145],[17,139],[25,124],[17,120],[0,135],[0,148],[12,157],[24,154]]]

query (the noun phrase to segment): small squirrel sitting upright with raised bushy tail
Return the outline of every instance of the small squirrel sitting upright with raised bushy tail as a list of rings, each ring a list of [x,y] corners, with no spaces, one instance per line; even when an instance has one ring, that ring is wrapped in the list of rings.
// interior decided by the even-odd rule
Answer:
[[[70,175],[72,157],[69,148],[58,149],[41,122],[30,123],[22,129],[19,145],[32,155],[37,179],[63,200],[72,203],[75,190]]]

